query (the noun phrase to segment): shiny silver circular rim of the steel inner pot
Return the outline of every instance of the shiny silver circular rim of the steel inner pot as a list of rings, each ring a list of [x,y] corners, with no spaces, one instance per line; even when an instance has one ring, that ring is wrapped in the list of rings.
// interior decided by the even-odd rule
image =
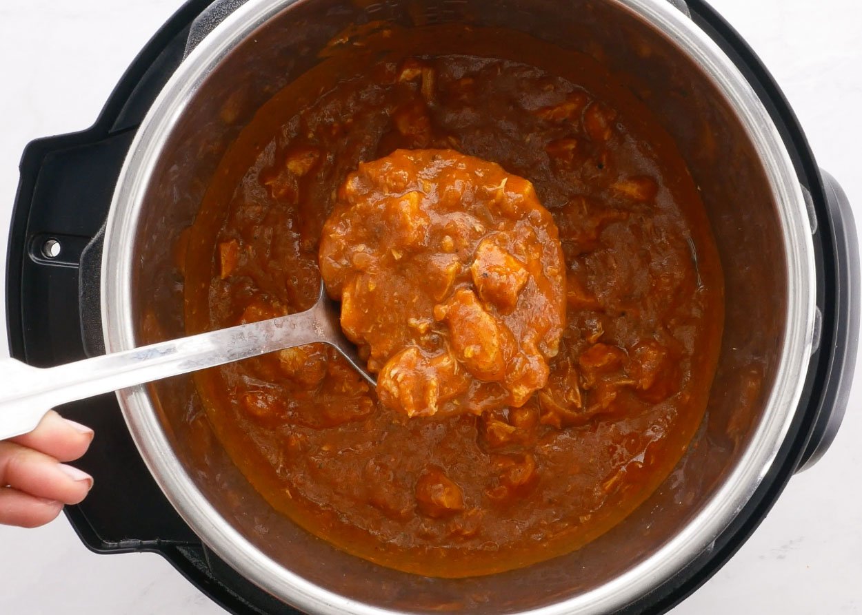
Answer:
[[[141,123],[117,180],[104,239],[102,313],[105,348],[135,346],[133,246],[141,208],[156,162],[179,118],[203,81],[236,44],[298,0],[248,0],[184,59]],[[784,350],[763,419],[740,462],[703,509],[647,560],[600,587],[531,611],[535,615],[612,612],[653,591],[708,550],[745,506],[771,469],[803,392],[815,329],[815,259],[802,190],[777,127],[733,62],[702,30],[665,0],[605,0],[647,22],[701,67],[736,112],[765,168],[784,238],[787,318]],[[284,568],[228,524],[197,489],[159,422],[144,386],[117,392],[123,417],[147,468],[188,523],[225,562],[290,605],[322,614],[394,613],[319,587]]]

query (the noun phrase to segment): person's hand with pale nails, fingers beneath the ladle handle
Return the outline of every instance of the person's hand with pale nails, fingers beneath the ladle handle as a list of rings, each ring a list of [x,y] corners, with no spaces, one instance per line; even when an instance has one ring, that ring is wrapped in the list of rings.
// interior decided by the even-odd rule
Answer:
[[[0,524],[38,527],[84,500],[91,475],[60,462],[84,455],[92,440],[89,427],[52,410],[33,432],[0,441]]]

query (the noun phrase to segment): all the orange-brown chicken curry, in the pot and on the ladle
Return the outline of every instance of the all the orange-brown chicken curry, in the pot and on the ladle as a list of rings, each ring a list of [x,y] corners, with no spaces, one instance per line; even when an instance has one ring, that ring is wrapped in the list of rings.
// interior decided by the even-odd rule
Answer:
[[[190,333],[306,309],[321,274],[342,301],[377,391],[324,345],[197,387],[272,506],[391,568],[578,549],[703,419],[723,291],[696,186],[595,62],[538,64],[313,69],[245,128],[191,231]]]

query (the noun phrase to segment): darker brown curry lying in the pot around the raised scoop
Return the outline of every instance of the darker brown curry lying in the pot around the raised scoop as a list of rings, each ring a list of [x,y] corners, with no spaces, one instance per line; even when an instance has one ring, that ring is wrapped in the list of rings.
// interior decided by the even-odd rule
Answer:
[[[565,328],[520,407],[408,418],[323,345],[197,376],[248,480],[340,549],[449,577],[569,552],[645,500],[703,418],[723,296],[696,188],[645,108],[589,59],[565,65],[384,57],[311,75],[222,162],[185,259],[189,332],[312,305],[338,189],[399,148],[497,163],[559,228]]]

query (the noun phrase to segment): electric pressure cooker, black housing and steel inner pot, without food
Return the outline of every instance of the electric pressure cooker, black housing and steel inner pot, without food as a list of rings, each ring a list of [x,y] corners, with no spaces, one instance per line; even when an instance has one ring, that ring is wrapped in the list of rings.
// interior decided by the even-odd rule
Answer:
[[[268,98],[369,22],[508,28],[588,53],[675,138],[702,190],[727,294],[719,369],[689,451],[647,502],[581,550],[499,575],[429,579],[348,556],[273,512],[180,377],[61,408],[99,434],[80,462],[95,487],[66,507],[72,526],[100,553],[161,554],[237,613],[669,610],[828,448],[859,335],[846,197],[765,67],[700,0],[191,0],[93,127],[25,150],[9,237],[12,356],[47,367],[132,347],[145,311],[162,335],[183,334],[173,245],[215,165]]]

